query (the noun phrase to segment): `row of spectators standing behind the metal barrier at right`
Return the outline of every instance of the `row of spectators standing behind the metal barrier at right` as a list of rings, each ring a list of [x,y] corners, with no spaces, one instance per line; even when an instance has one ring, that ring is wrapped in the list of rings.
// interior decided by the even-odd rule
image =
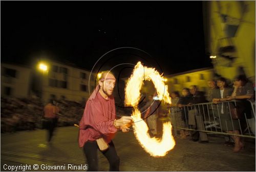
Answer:
[[[255,115],[251,111],[251,104],[247,100],[255,102],[255,91],[252,83],[244,75],[240,75],[233,80],[233,83],[228,84],[225,78],[218,78],[207,81],[208,89],[206,92],[198,90],[196,85],[189,88],[183,88],[181,96],[179,92],[171,93],[172,109],[177,109],[173,112],[181,116],[181,128],[194,129],[188,134],[186,130],[180,130],[181,138],[185,139],[188,135],[191,140],[199,142],[208,142],[207,134],[205,132],[205,124],[203,120],[205,113],[208,115],[214,114],[218,120],[221,130],[230,133],[231,138],[225,136],[225,145],[232,145],[230,140],[234,142],[234,152],[239,152],[244,144],[242,143],[239,134],[247,128],[255,136]],[[237,103],[233,103],[236,100]],[[232,103],[230,102],[232,101]],[[202,103],[209,103],[203,105]],[[202,104],[201,106],[195,106]],[[238,106],[240,105],[240,106]],[[233,109],[240,109],[241,114],[246,114],[238,119],[231,117],[230,113]],[[237,110],[237,109],[236,109]],[[207,111],[207,112],[205,112]],[[240,130],[242,128],[242,130]],[[234,135],[232,135],[234,134]]]

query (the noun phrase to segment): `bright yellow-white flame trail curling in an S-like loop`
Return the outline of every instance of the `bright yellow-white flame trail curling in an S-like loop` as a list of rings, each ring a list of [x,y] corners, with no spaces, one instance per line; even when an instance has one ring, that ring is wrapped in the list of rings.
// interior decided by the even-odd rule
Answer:
[[[152,80],[159,99],[168,104],[171,103],[167,85],[164,84],[164,78],[155,68],[143,66],[141,62],[138,62],[125,88],[125,104],[134,108],[132,113],[134,134],[142,148],[154,157],[165,156],[175,146],[175,140],[172,136],[172,125],[169,121],[163,124],[162,139],[151,138],[147,134],[148,127],[144,120],[141,119],[140,111],[136,106],[139,102],[143,80]]]

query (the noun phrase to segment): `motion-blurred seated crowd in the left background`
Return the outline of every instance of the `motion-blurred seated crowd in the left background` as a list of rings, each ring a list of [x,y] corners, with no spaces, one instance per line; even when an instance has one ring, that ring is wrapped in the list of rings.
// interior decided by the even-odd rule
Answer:
[[[58,127],[79,124],[84,105],[67,100],[57,102],[60,109]],[[1,97],[1,132],[41,129],[44,106],[45,104],[35,97]]]

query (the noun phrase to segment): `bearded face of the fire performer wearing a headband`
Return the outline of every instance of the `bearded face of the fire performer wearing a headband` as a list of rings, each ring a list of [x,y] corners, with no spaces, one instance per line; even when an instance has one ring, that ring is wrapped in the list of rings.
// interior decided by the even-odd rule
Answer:
[[[112,93],[114,91],[116,79],[111,73],[106,74],[106,76],[104,78],[106,78],[106,80],[104,80],[102,82],[100,81],[101,82],[100,86],[102,87],[102,91],[106,95],[110,96],[110,95],[112,95]]]

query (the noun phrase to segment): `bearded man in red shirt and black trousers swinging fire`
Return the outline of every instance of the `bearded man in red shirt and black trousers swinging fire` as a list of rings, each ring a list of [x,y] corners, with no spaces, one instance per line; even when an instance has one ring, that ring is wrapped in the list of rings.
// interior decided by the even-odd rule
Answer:
[[[97,150],[108,159],[110,171],[119,171],[119,157],[112,138],[118,129],[129,131],[130,116],[116,118],[115,100],[112,96],[116,79],[110,71],[103,71],[98,85],[86,103],[79,124],[79,146],[83,147],[88,161],[88,171],[98,170]]]

